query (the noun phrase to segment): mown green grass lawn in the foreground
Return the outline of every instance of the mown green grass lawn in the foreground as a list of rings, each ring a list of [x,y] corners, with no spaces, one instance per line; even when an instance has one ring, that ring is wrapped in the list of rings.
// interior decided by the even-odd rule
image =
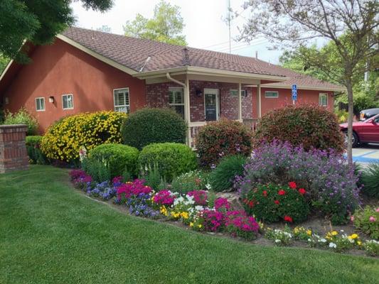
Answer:
[[[49,166],[0,175],[0,283],[378,283],[379,261],[129,217]]]

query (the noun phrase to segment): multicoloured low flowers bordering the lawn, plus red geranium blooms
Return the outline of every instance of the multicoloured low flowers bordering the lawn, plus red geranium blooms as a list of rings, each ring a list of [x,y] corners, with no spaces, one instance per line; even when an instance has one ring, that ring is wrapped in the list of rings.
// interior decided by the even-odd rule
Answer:
[[[329,231],[325,236],[321,236],[316,234],[316,231],[301,226],[294,229],[289,229],[288,226],[285,226],[284,229],[264,229],[263,224],[257,222],[254,216],[249,216],[245,210],[234,209],[230,202],[223,197],[215,199],[214,207],[210,207],[208,192],[204,190],[194,190],[187,194],[170,190],[154,192],[151,187],[144,184],[144,180],[137,179],[124,183],[121,178],[114,178],[112,182],[99,184],[93,182],[92,178],[82,170],[72,170],[70,177],[75,187],[87,195],[102,200],[113,198],[114,204],[125,206],[130,214],[139,217],[172,220],[195,231],[229,234],[247,241],[265,236],[278,246],[302,242],[310,247],[331,249],[336,252],[360,249],[370,256],[379,255],[378,241],[364,241],[355,233],[347,235],[341,231]],[[284,194],[281,190],[284,191]],[[299,198],[306,194],[294,183],[282,187],[275,194],[283,197],[288,192],[293,192]],[[263,189],[261,194],[263,195]],[[267,192],[267,196],[269,196],[269,192]],[[283,219],[286,219],[285,216]]]

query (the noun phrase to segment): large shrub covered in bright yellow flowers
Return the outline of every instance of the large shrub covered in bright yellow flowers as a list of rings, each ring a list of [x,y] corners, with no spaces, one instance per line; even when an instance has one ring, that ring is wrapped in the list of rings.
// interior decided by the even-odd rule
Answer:
[[[127,114],[116,111],[67,116],[48,128],[41,141],[41,151],[56,160],[78,160],[83,146],[89,151],[102,143],[121,143],[119,130],[126,118]]]

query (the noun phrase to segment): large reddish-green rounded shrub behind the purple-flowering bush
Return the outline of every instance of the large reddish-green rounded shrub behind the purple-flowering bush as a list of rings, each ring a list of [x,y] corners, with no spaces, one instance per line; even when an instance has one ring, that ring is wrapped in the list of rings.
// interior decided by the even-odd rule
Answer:
[[[336,116],[317,105],[289,105],[262,116],[254,133],[254,148],[274,139],[302,145],[306,151],[311,148],[343,151],[343,135]]]

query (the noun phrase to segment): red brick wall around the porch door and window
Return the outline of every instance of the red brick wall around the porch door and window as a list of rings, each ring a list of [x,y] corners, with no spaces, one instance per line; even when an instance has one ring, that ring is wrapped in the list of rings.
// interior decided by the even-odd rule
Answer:
[[[191,122],[204,121],[204,96],[196,96],[196,89],[218,89],[220,94],[220,117],[238,119],[238,97],[230,95],[230,89],[238,89],[238,84],[190,81]],[[146,85],[146,104],[149,107],[169,107],[169,87],[181,87],[174,82]],[[247,97],[242,97],[242,119],[252,119],[252,88],[242,87]]]

